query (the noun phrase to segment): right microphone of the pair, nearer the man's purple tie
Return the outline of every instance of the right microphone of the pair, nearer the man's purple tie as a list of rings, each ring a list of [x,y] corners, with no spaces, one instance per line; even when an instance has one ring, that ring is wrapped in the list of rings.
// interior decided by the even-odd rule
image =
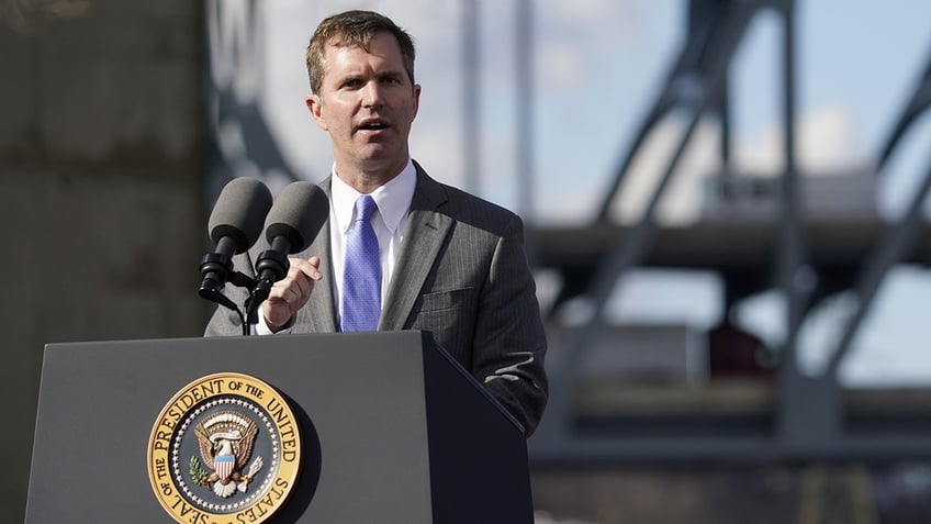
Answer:
[[[262,252],[256,261],[255,306],[268,298],[271,285],[288,274],[288,255],[306,249],[327,218],[329,199],[316,183],[292,182],[281,190],[265,221],[265,237],[271,249]]]

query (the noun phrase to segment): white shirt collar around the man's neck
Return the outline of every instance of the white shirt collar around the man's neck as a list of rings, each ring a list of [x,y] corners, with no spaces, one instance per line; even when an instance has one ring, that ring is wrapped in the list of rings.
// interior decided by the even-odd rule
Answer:
[[[336,176],[336,164],[333,165],[332,171],[330,198],[333,199],[333,210],[339,231],[346,232],[351,224],[356,199],[362,193],[356,191]],[[414,168],[414,163],[408,158],[407,165],[404,166],[401,174],[371,192],[372,199],[379,208],[375,216],[380,215],[385,227],[392,233],[401,224],[402,219],[407,214],[407,210],[411,209],[416,185],[417,170]]]

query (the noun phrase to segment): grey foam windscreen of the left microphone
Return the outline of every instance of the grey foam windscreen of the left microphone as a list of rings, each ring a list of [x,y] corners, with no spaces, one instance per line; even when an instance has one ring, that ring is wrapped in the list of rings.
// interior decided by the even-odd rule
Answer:
[[[244,253],[261,235],[262,223],[271,208],[271,191],[255,178],[234,178],[220,192],[207,231],[214,244],[233,238],[236,254]]]

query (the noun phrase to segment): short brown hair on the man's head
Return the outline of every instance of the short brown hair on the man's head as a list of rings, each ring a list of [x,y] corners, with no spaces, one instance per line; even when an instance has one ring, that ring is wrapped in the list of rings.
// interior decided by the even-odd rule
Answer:
[[[346,11],[325,19],[307,45],[307,76],[311,79],[311,91],[318,93],[326,74],[325,51],[327,44],[336,46],[359,46],[369,51],[372,36],[378,33],[390,33],[397,40],[401,57],[411,85],[414,83],[414,41],[403,29],[399,27],[388,16],[372,11]]]

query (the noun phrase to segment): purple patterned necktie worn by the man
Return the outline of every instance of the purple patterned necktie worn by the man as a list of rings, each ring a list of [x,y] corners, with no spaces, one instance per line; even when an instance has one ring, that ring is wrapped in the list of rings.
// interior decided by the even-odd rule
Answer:
[[[375,331],[381,315],[381,257],[371,218],[378,209],[368,194],[356,200],[352,225],[346,235],[343,266],[340,331]]]

